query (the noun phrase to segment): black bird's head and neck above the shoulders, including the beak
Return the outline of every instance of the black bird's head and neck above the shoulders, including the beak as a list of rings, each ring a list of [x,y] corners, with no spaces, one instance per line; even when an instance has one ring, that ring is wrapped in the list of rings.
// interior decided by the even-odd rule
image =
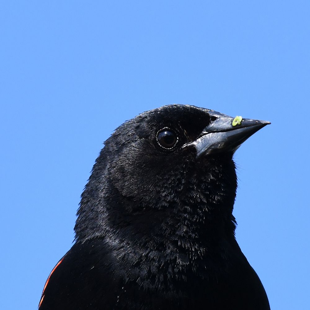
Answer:
[[[105,141],[82,193],[77,241],[233,234],[232,156],[267,124],[179,104],[125,122]]]

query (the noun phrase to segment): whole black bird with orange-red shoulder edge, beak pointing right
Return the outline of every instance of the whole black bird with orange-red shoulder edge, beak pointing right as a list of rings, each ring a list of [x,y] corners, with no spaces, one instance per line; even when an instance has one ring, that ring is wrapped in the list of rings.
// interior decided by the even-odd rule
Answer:
[[[119,126],[39,310],[268,310],[235,239],[232,156],[266,121],[167,105]]]

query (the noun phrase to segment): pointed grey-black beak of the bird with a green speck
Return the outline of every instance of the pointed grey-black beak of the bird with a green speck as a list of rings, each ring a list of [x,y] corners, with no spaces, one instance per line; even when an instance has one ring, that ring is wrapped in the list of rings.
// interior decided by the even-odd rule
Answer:
[[[208,113],[211,123],[204,128],[197,140],[183,145],[183,148],[194,146],[197,150],[197,157],[211,153],[234,153],[256,131],[271,124],[268,121],[241,116],[234,118],[215,111],[208,111]]]

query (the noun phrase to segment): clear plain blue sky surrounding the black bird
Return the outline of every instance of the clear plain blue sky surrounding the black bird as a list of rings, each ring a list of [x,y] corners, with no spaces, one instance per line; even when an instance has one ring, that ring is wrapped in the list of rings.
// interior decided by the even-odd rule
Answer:
[[[236,153],[237,240],[273,310],[309,309],[309,1],[5,1],[0,308],[36,309],[102,142],[194,104],[272,122]]]

